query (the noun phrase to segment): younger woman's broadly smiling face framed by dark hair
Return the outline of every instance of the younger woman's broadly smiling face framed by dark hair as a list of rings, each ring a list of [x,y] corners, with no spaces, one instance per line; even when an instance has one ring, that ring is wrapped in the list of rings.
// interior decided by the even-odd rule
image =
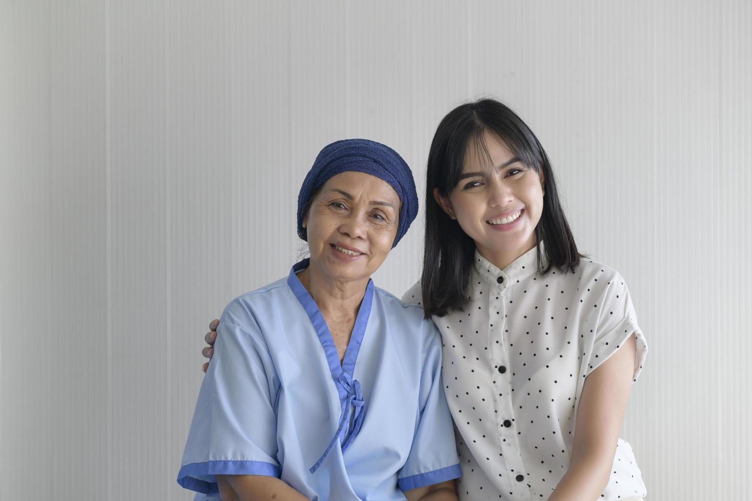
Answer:
[[[543,210],[543,173],[514,156],[493,132],[484,131],[483,149],[468,144],[462,176],[450,196],[437,201],[475,240],[478,252],[506,266],[535,246]],[[501,264],[499,264],[501,263]]]

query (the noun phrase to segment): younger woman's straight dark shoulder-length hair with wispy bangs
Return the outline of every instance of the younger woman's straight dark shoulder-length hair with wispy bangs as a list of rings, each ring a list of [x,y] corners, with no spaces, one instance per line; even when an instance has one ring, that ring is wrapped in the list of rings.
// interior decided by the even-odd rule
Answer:
[[[538,247],[538,273],[546,275],[552,267],[573,273],[581,254],[569,229],[556,191],[556,180],[543,146],[530,128],[505,104],[481,99],[451,110],[431,143],[426,179],[426,240],[423,252],[421,287],[426,318],[462,311],[469,303],[475,242],[459,223],[444,213],[433,192],[448,197],[459,183],[465,152],[474,144],[487,152],[484,131],[490,131],[526,166],[544,174],[543,211],[535,227]],[[541,241],[548,264],[544,265]]]

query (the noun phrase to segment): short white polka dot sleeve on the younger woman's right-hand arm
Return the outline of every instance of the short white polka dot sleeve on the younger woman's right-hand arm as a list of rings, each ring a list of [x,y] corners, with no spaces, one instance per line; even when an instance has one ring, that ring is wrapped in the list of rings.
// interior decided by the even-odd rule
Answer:
[[[602,305],[595,305],[600,306],[600,312],[586,376],[614,355],[632,336],[632,333],[635,333],[637,344],[632,381],[637,381],[642,371],[645,355],[647,355],[647,342],[637,324],[637,315],[635,307],[632,306],[632,299],[629,297],[629,289],[626,288],[626,283],[619,273],[614,272],[601,302]]]

